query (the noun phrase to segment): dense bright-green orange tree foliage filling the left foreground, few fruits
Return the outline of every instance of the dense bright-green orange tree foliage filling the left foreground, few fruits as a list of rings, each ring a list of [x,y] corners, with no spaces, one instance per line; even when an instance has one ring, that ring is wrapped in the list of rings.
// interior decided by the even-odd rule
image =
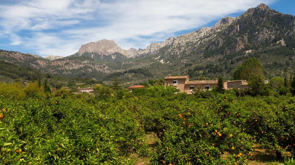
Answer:
[[[0,105],[1,164],[132,164],[131,153],[146,154],[128,110],[45,97]]]

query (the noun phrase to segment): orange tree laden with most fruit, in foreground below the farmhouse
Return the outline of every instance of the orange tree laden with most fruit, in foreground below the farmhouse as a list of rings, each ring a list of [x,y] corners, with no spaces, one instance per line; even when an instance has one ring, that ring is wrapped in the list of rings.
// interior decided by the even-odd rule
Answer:
[[[245,133],[247,112],[234,96],[178,102],[177,120],[167,120],[165,136],[157,141],[151,164],[244,164],[251,156],[253,137]],[[222,154],[227,159],[222,159]]]

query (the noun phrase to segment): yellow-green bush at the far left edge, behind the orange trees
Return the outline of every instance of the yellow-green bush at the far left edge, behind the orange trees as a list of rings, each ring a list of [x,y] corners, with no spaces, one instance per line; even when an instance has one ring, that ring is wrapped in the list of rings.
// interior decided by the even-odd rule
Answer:
[[[23,100],[25,92],[21,83],[1,83],[0,82],[0,96],[5,99]]]

